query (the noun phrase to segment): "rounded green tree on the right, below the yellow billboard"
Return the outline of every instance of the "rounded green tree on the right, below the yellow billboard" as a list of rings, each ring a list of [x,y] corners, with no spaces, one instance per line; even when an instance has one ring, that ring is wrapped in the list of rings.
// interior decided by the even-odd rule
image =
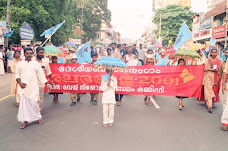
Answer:
[[[183,7],[180,5],[168,5],[166,8],[158,9],[155,13],[153,22],[159,28],[161,17],[161,36],[163,37],[163,44],[168,45],[168,41],[175,42],[178,32],[185,21],[188,27],[192,27],[192,15],[193,12],[189,7]],[[155,33],[158,33],[155,30]]]

